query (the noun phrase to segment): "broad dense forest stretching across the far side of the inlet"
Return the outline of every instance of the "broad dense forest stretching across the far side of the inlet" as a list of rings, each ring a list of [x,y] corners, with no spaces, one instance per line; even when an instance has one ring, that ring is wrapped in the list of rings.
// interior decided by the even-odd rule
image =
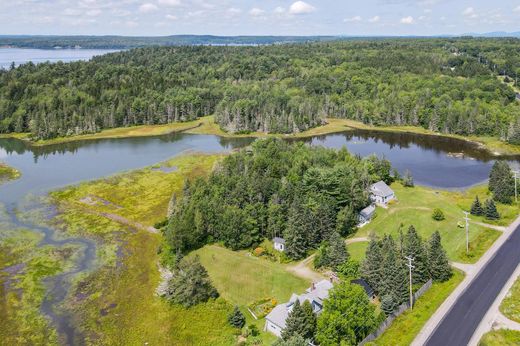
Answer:
[[[516,143],[519,71],[518,39],[138,48],[0,71],[0,132],[52,138],[214,114],[230,132],[339,117]]]

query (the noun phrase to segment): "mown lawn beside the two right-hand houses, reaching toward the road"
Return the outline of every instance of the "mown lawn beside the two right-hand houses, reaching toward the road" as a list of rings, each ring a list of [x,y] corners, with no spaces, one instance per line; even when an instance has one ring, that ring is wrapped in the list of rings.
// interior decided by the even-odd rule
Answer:
[[[354,237],[369,236],[375,234],[382,236],[385,233],[394,237],[399,236],[399,230],[405,232],[413,225],[417,232],[424,238],[438,230],[442,237],[442,243],[450,260],[462,263],[474,263],[500,236],[500,232],[490,229],[475,222],[484,222],[483,217],[472,216],[470,223],[471,254],[466,255],[465,229],[457,226],[462,220],[463,210],[469,210],[475,194],[484,197],[484,187],[475,187],[464,192],[437,191],[427,187],[416,186],[405,188],[400,183],[392,184],[397,198],[388,209],[377,208],[376,216],[371,223],[364,226]],[[444,212],[443,221],[432,219],[432,211],[439,208]],[[503,213],[500,223],[508,224],[516,217],[516,206],[499,205]],[[513,216],[514,215],[514,216]]]

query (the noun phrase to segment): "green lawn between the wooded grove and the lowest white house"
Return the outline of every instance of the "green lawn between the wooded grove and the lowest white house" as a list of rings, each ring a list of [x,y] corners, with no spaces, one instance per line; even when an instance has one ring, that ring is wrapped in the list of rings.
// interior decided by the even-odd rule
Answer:
[[[301,293],[310,285],[285,269],[285,265],[208,245],[194,252],[221,296],[232,304],[248,305],[261,298],[287,301],[292,293]]]

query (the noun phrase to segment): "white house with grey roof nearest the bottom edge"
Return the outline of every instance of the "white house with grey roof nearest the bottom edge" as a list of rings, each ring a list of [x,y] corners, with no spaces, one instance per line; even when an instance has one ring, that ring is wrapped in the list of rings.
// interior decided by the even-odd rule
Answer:
[[[291,299],[287,303],[279,304],[265,317],[265,330],[280,337],[282,330],[285,329],[285,320],[292,311],[296,300],[303,304],[305,301],[311,303],[314,313],[319,314],[323,309],[323,301],[329,297],[329,290],[332,288],[332,282],[322,280],[316,284],[312,284],[305,293],[296,295],[293,293]]]

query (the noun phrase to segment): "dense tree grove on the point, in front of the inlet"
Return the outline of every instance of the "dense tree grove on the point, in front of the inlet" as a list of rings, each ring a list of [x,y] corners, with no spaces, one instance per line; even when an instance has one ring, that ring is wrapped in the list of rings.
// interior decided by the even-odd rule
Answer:
[[[237,250],[283,236],[286,253],[302,258],[334,232],[351,234],[370,202],[369,184],[391,180],[390,163],[339,151],[257,140],[226,157],[209,178],[174,197],[166,238],[174,254],[220,242]]]

